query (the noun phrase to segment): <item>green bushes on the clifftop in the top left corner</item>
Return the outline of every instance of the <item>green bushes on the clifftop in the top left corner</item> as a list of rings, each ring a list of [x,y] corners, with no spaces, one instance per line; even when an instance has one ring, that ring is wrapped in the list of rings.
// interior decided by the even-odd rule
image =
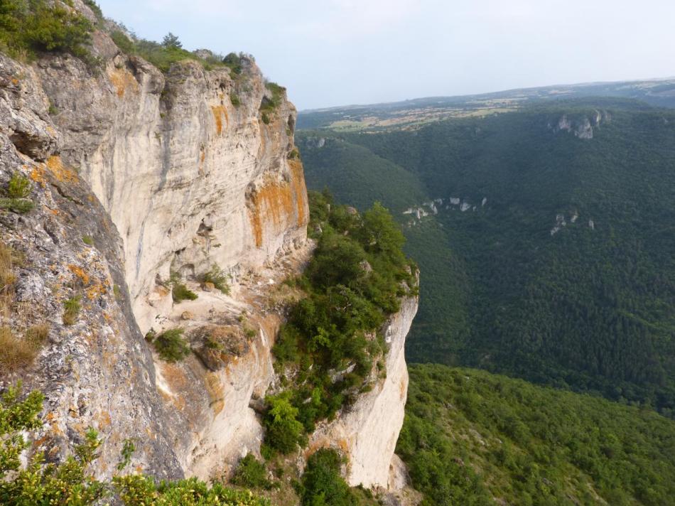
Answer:
[[[89,52],[85,46],[93,29],[87,18],[59,2],[0,2],[0,51],[14,58],[33,58],[43,51],[58,51],[87,59]]]

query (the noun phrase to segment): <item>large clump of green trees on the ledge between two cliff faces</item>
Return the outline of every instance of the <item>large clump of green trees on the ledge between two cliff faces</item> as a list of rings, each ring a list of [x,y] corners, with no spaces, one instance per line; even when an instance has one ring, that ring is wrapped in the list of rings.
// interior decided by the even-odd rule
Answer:
[[[416,290],[403,234],[386,209],[376,203],[360,215],[330,195],[310,199],[318,244],[292,281],[306,298],[291,308],[274,346],[286,391],[267,399],[264,419],[266,443],[282,453],[358,394],[385,352],[382,324]]]

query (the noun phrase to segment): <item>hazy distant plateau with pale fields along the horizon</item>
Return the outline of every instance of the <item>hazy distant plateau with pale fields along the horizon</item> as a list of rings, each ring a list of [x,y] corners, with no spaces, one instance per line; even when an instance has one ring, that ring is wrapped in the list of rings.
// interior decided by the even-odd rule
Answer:
[[[421,124],[460,117],[507,112],[534,102],[582,97],[637,99],[658,107],[675,107],[675,77],[668,79],[590,82],[522,88],[481,95],[426,97],[386,104],[350,105],[302,111],[300,129],[384,130],[417,128]]]

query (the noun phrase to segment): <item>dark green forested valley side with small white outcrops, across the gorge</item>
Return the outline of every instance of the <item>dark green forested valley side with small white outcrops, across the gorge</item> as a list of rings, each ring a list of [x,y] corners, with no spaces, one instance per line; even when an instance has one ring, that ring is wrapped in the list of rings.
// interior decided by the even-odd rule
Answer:
[[[674,414],[674,112],[585,99],[299,144],[310,187],[404,225],[411,361]]]

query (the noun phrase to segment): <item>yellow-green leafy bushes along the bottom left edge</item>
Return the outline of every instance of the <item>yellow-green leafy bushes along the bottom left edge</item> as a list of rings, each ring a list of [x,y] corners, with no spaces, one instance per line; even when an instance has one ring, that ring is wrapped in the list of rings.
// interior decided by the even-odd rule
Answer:
[[[58,465],[43,464],[36,455],[26,468],[20,468],[21,452],[28,448],[22,431],[38,429],[42,422],[38,414],[43,395],[31,392],[20,400],[20,387],[12,387],[0,399],[0,504],[75,505],[97,504],[117,496],[129,506],[269,506],[269,501],[249,490],[231,490],[220,483],[212,486],[189,478],[156,483],[145,475],[116,475],[112,482],[95,479],[91,464],[97,458],[101,441],[90,429],[85,442],[75,448],[75,455]],[[125,448],[133,448],[125,444]],[[124,452],[123,452],[124,453]],[[123,455],[118,466],[122,470],[129,462]]]

